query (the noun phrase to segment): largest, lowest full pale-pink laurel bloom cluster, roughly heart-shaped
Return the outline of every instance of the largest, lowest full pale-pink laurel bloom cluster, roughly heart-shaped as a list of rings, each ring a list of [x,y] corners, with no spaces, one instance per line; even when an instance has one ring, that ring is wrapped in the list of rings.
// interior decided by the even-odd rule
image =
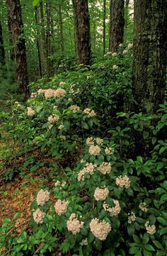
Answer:
[[[98,238],[99,240],[103,241],[107,238],[108,233],[110,233],[111,226],[110,223],[103,221],[99,221],[98,218],[93,218],[90,223],[91,233]]]

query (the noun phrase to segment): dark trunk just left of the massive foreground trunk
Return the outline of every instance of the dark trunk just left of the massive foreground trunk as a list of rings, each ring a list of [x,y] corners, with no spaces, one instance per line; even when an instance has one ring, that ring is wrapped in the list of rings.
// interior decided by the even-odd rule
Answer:
[[[125,0],[110,0],[109,51],[116,52],[124,36]]]

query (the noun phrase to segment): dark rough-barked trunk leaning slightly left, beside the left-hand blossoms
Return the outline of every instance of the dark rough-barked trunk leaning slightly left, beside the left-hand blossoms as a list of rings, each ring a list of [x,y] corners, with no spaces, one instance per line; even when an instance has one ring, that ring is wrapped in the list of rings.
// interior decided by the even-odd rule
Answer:
[[[24,94],[25,100],[30,96],[28,87],[28,67],[26,60],[25,39],[23,38],[23,20],[20,0],[7,0],[8,22],[14,45],[16,61],[16,81],[18,82],[18,94]]]

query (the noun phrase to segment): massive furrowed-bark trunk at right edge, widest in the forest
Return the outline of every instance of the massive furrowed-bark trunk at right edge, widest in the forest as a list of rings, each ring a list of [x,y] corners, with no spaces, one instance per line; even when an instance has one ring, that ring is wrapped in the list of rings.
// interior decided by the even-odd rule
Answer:
[[[135,111],[156,113],[166,86],[167,0],[134,1]]]

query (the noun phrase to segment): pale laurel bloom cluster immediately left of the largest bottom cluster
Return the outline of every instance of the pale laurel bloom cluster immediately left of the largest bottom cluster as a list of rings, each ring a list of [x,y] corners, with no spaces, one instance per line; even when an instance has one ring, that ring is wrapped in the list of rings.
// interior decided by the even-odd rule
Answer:
[[[67,221],[67,229],[71,231],[73,235],[76,235],[80,232],[81,228],[84,227],[84,222],[79,222],[78,218],[76,218],[75,213],[71,213],[71,216],[69,217]]]

